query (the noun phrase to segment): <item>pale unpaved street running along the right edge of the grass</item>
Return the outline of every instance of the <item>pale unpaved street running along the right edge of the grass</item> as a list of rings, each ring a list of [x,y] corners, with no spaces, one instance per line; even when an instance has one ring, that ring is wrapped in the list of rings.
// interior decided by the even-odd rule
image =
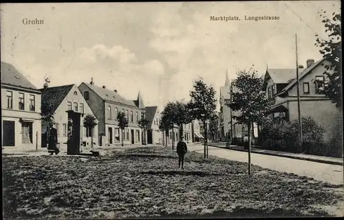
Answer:
[[[204,152],[204,146],[201,145],[190,144],[188,145],[188,149],[189,151],[200,152],[202,154]],[[247,152],[209,146],[208,154],[224,159],[248,162]],[[262,168],[312,177],[316,180],[332,184],[343,184],[343,166],[254,153],[251,154],[251,162],[253,165],[261,166]]]

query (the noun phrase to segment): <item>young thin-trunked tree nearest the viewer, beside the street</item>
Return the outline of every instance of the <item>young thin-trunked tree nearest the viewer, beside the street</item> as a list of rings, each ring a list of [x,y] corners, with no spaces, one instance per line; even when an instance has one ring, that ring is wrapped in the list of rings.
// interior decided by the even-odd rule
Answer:
[[[237,80],[233,82],[238,92],[232,95],[232,100],[226,102],[226,106],[233,111],[240,111],[238,116],[233,116],[237,123],[241,123],[248,128],[248,174],[251,174],[251,155],[250,155],[250,132],[252,123],[263,123],[271,106],[272,99],[266,99],[263,88],[263,79],[258,76],[257,71],[239,70]]]

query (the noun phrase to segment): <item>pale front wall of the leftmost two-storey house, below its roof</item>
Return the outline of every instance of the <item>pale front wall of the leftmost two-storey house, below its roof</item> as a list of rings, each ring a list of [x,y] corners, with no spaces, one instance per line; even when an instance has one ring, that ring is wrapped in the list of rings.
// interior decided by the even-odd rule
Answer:
[[[6,90],[12,91],[12,109],[7,108]],[[19,110],[19,92],[24,93],[24,108]],[[35,110],[30,111],[30,94],[35,96]],[[21,119],[30,119],[32,121],[32,143],[22,143],[21,141]],[[6,146],[4,148],[34,150],[36,146],[41,147],[41,93],[31,90],[14,90],[1,86],[1,126],[3,121],[14,121],[14,144],[15,146]],[[1,127],[2,128],[2,127]],[[36,141],[36,134],[38,139]],[[3,129],[1,129],[3,137]],[[2,144],[2,143],[1,143]]]

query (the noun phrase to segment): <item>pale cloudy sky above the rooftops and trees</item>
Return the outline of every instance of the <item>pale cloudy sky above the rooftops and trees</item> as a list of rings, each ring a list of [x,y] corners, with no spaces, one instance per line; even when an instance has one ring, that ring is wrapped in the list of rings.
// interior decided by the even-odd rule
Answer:
[[[219,98],[226,70],[253,66],[294,68],[321,59],[315,34],[325,38],[318,12],[340,10],[340,1],[1,4],[1,61],[11,63],[37,88],[89,83],[142,94],[146,106],[189,100],[202,77]],[[240,21],[211,21],[210,17]],[[274,16],[277,21],[245,21]],[[24,24],[23,19],[43,20]]]

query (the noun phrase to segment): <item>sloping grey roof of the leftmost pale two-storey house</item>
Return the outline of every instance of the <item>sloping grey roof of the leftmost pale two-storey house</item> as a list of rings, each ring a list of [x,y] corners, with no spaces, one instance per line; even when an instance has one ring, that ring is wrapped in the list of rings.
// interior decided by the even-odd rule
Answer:
[[[1,62],[1,84],[38,90],[19,70],[10,63]]]

